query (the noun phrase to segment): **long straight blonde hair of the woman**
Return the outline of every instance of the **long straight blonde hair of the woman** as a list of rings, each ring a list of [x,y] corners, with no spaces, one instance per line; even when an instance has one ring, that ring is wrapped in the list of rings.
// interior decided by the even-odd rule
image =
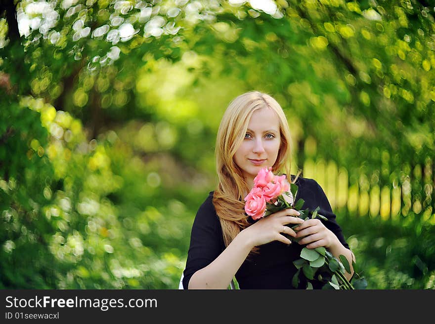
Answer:
[[[285,173],[289,182],[295,182],[300,173],[291,180],[290,130],[278,102],[270,95],[259,91],[249,91],[233,99],[220,121],[215,149],[218,184],[213,204],[222,227],[225,246],[228,246],[242,229],[250,225],[244,212],[243,199],[251,188],[233,157],[245,137],[252,114],[264,107],[272,109],[279,119],[281,144],[272,172]]]

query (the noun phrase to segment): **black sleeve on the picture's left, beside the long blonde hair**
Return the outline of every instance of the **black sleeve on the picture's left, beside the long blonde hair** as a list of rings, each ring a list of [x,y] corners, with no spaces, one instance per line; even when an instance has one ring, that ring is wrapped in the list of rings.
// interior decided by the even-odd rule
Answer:
[[[195,272],[212,263],[224,249],[222,228],[215,207],[213,194],[199,207],[192,225],[183,288],[187,289]]]

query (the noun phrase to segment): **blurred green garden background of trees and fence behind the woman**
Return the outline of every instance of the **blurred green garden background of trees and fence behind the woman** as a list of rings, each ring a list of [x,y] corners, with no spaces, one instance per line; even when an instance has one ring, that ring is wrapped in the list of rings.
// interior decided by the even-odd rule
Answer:
[[[252,89],[368,288],[435,288],[429,2],[1,0],[0,288],[176,289]]]

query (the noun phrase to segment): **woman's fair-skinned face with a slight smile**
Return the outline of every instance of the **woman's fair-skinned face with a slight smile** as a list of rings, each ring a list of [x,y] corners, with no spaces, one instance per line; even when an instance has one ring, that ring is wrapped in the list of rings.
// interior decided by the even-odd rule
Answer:
[[[249,121],[242,144],[234,154],[234,162],[242,169],[248,185],[254,185],[258,171],[275,164],[281,137],[276,113],[264,107],[256,110]]]

